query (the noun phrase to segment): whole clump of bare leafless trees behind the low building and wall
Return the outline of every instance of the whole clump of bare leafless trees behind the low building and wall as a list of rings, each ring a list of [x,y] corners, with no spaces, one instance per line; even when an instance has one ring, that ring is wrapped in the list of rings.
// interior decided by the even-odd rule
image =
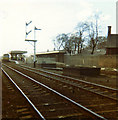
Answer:
[[[94,54],[94,50],[99,43],[99,32],[101,26],[99,25],[100,14],[94,14],[93,20],[90,19],[87,22],[79,22],[75,28],[75,33],[59,34],[54,42],[55,50],[65,50],[68,53],[81,53],[83,46],[89,44],[92,48],[91,54]]]

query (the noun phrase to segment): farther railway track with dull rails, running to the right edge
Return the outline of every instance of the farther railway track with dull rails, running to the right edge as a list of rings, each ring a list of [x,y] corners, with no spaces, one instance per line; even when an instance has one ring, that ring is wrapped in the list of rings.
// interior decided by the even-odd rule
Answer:
[[[89,91],[94,92],[96,94],[102,95],[104,97],[108,97],[108,98],[117,100],[117,92],[118,92],[118,90],[115,89],[115,88],[110,88],[110,87],[106,87],[106,86],[103,86],[103,85],[99,85],[99,84],[79,80],[79,79],[76,79],[76,78],[63,76],[63,75],[48,72],[48,71],[45,71],[45,70],[42,70],[42,69],[34,69],[34,68],[31,68],[31,67],[27,67],[27,66],[23,66],[23,69],[25,69],[25,70],[29,69],[30,72],[34,72],[36,74],[45,76],[47,78],[57,80],[57,81],[62,81],[62,82],[68,83],[68,84],[70,83],[73,86],[77,86],[79,88],[84,88],[86,90],[89,90]]]

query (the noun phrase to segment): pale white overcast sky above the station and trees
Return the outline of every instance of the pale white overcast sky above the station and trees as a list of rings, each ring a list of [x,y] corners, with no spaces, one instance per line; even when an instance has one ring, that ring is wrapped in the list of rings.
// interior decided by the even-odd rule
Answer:
[[[32,20],[27,32],[34,39],[36,51],[54,49],[52,40],[60,33],[69,33],[77,23],[84,21],[95,11],[102,13],[101,23],[107,34],[107,26],[116,33],[117,0],[0,0],[0,56],[11,50],[26,50],[33,53],[33,46],[25,41],[26,22]]]

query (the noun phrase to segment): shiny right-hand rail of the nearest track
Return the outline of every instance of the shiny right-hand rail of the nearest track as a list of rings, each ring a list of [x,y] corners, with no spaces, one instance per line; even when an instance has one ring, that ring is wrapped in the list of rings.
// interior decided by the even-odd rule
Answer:
[[[9,69],[11,69],[11,70],[13,70],[13,71],[19,73],[20,75],[22,75],[22,76],[24,76],[24,77],[30,79],[31,81],[33,81],[33,82],[35,82],[35,83],[37,83],[37,84],[39,84],[39,85],[41,85],[41,86],[47,88],[48,90],[50,90],[50,91],[56,93],[57,95],[63,97],[64,99],[70,101],[71,103],[77,105],[78,107],[82,108],[84,111],[88,112],[90,115],[94,116],[95,118],[100,119],[100,120],[107,120],[107,119],[104,118],[103,116],[101,116],[101,115],[99,115],[99,114],[97,114],[97,113],[91,111],[90,109],[88,109],[88,108],[84,107],[83,105],[81,105],[81,104],[75,102],[74,100],[72,100],[72,99],[66,97],[65,95],[63,95],[63,94],[61,94],[61,93],[59,93],[59,92],[53,90],[52,88],[50,88],[50,87],[44,85],[43,83],[40,83],[40,82],[36,81],[35,79],[31,78],[30,76],[27,76],[27,75],[25,75],[24,73],[22,73],[22,72],[20,72],[20,71],[18,71],[18,70],[15,70],[15,69],[12,68],[12,67],[9,67],[9,66],[7,66],[7,65],[5,65],[5,66],[8,67]]]

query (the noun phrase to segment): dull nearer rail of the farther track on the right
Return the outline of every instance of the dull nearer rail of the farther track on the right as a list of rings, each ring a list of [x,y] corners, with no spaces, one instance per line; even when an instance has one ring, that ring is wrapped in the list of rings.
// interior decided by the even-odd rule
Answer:
[[[22,69],[25,69],[25,70],[28,70],[28,71],[34,72],[34,73],[36,73],[36,74],[38,74],[38,75],[42,75],[42,76],[47,77],[47,78],[51,78],[51,79],[54,79],[54,80],[60,81],[60,80],[58,80],[58,79],[56,79],[56,78],[53,78],[53,77],[51,77],[51,76],[49,77],[49,76],[47,76],[47,75],[45,75],[45,74],[37,73],[36,71],[29,70],[29,69],[27,69],[27,68],[22,68]],[[59,76],[57,76],[57,77],[59,77]],[[78,87],[78,88],[80,88],[80,89],[83,89],[83,90],[89,91],[89,92],[91,92],[91,93],[94,93],[94,94],[97,94],[97,95],[100,95],[100,96],[106,97],[106,98],[108,98],[108,99],[112,99],[112,100],[118,101],[116,98],[113,98],[113,97],[110,97],[110,96],[107,96],[107,95],[104,95],[104,94],[101,94],[101,93],[98,93],[98,92],[92,91],[92,90],[90,90],[90,89],[86,89],[86,88],[82,88],[82,87],[80,87],[80,86],[76,86],[76,85],[74,85],[73,83],[68,83],[67,81],[61,81],[61,82],[66,83],[66,84],[69,84],[69,85],[73,85],[74,87]],[[97,86],[97,87],[98,87],[98,86]],[[107,89],[107,88],[104,88],[104,89]],[[110,89],[110,90],[111,90],[111,89]]]

